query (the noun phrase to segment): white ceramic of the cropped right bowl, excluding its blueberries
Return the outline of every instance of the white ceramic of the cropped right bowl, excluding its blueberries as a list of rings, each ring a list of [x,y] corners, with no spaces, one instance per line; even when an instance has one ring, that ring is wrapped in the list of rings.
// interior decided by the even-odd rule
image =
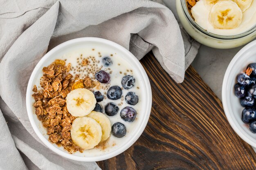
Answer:
[[[256,134],[249,130],[249,124],[243,123],[242,111],[238,97],[234,93],[236,76],[246,70],[248,64],[256,62],[256,40],[247,44],[231,60],[222,84],[222,104],[231,127],[249,145],[256,147]]]

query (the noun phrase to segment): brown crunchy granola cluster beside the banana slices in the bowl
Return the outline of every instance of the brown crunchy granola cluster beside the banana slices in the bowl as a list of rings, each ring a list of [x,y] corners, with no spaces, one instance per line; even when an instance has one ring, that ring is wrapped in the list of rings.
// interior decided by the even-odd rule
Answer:
[[[35,99],[34,107],[36,115],[47,129],[49,141],[63,146],[68,152],[82,152],[83,149],[76,146],[70,135],[73,120],[66,105],[65,97],[76,88],[100,88],[99,82],[89,76],[79,79],[79,75],[73,77],[69,73],[71,64],[64,60],[55,60],[52,64],[43,68],[43,77],[40,79],[41,90],[34,86],[32,95]]]

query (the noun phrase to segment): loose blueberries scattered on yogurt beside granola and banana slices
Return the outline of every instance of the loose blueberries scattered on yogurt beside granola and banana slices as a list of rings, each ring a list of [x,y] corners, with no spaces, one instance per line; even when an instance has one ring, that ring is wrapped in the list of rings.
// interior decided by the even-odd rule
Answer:
[[[104,66],[106,67],[112,65],[112,60],[110,59],[110,57],[104,57],[102,61]],[[110,74],[103,70],[96,73],[95,78],[101,83],[110,82]],[[134,84],[135,84],[135,78],[131,75],[125,75],[121,80],[121,85],[123,86],[124,89],[130,89],[134,86]],[[123,92],[121,87],[111,86],[108,89],[107,97],[108,99],[111,99],[111,100],[117,100],[122,97],[122,94]],[[94,96],[97,101],[94,111],[103,113],[103,109],[101,108],[101,105],[98,104],[98,102],[101,102],[103,100],[103,95],[101,94],[101,92],[96,91],[94,92]],[[125,96],[125,100],[127,104],[134,106],[139,102],[139,97],[135,94],[135,92],[128,92]],[[118,113],[119,107],[115,103],[110,102],[106,104],[106,106],[104,107],[104,110],[108,116],[114,116]],[[135,120],[136,115],[137,115],[136,110],[130,106],[127,106],[120,111],[120,116],[124,121],[132,122]],[[112,134],[115,137],[124,137],[126,135],[125,125],[120,122],[113,124]]]

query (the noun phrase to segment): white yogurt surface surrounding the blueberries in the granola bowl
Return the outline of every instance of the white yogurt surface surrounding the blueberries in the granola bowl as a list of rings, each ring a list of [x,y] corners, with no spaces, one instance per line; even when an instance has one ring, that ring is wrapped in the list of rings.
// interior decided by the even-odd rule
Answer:
[[[94,49],[94,50],[92,50],[92,49]],[[99,52],[100,52],[101,57],[99,57]],[[110,73],[110,71],[112,71],[112,73],[110,74],[110,86],[117,85],[119,87],[122,87],[121,79],[122,79],[122,77],[125,76],[124,73],[126,73],[126,75],[132,75],[135,78],[135,86],[133,86],[132,88],[130,88],[128,90],[126,90],[126,89],[122,90],[122,95],[124,95],[124,97],[130,91],[135,92],[136,95],[138,95],[139,102],[135,106],[127,104],[125,99],[123,101],[121,101],[121,99],[110,100],[110,99],[106,98],[106,99],[103,99],[103,101],[99,102],[99,104],[101,105],[103,110],[104,110],[104,106],[106,104],[108,104],[109,102],[113,102],[113,103],[117,104],[117,106],[118,106],[118,104],[121,104],[121,102],[123,103],[123,104],[121,104],[121,106],[118,106],[119,112],[117,113],[117,115],[114,115],[114,116],[106,115],[106,116],[110,119],[111,126],[113,124],[115,124],[116,122],[121,122],[122,124],[124,124],[126,126],[126,135],[122,138],[117,138],[111,134],[109,139],[107,140],[107,142],[104,145],[102,145],[102,146],[100,145],[99,147],[95,147],[90,150],[84,150],[83,153],[80,153],[80,152],[73,153],[74,155],[79,155],[79,156],[83,156],[83,157],[104,155],[104,154],[109,153],[112,150],[120,148],[120,146],[124,145],[127,142],[127,139],[130,139],[132,133],[135,132],[137,130],[137,128],[139,127],[140,119],[141,119],[141,117],[143,117],[143,115],[141,115],[141,112],[143,110],[142,105],[144,104],[144,101],[145,101],[145,99],[143,99],[143,97],[141,95],[141,90],[140,90],[140,88],[141,88],[140,84],[142,84],[142,82],[141,82],[142,79],[141,79],[141,75],[136,74],[136,71],[132,70],[133,66],[129,62],[127,62],[127,60],[124,59],[125,56],[121,56],[116,51],[113,51],[112,49],[110,50],[104,46],[99,46],[99,45],[95,46],[92,44],[91,46],[86,46],[85,48],[79,48],[79,49],[75,49],[73,51],[67,51],[66,53],[64,53],[64,55],[56,57],[56,59],[66,60],[66,65],[68,63],[71,63],[71,66],[76,68],[76,66],[79,66],[77,63],[77,58],[80,58],[81,54],[85,58],[88,56],[94,56],[96,60],[100,61],[100,63],[98,63],[98,66],[103,65],[103,63],[102,63],[103,57],[108,56],[111,58],[113,64],[111,66],[103,66],[103,68],[101,69],[101,70],[105,70],[105,68],[106,68],[107,69],[106,72],[108,72],[108,73]],[[112,56],[110,56],[111,54],[112,54]],[[108,68],[110,68],[111,70],[108,70]],[[74,71],[70,71],[70,73],[73,75],[77,74],[77,72],[74,73]],[[80,74],[82,75],[83,73],[80,72]],[[40,77],[38,77],[35,81],[35,84],[38,87],[40,86]],[[90,77],[92,77],[92,75]],[[100,91],[102,95],[104,95],[104,92],[107,92],[107,90],[102,90],[102,89],[101,90],[94,89],[94,91]],[[106,95],[104,95],[104,96],[106,96]],[[130,106],[137,111],[136,119],[133,122],[124,121],[120,117],[121,109],[125,108],[126,106]],[[46,134],[46,130],[43,129],[43,126],[41,124],[40,124],[40,129],[44,131],[44,136],[45,136],[45,138],[48,139],[49,135]],[[63,148],[63,147],[61,146],[61,148]]]

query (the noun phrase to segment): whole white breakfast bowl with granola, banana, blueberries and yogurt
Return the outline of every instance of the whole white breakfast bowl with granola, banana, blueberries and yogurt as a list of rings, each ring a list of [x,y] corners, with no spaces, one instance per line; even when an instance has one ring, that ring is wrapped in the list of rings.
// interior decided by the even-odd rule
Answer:
[[[150,82],[137,58],[101,38],[77,38],[50,50],[34,68],[26,93],[36,135],[76,161],[101,161],[127,150],[144,131],[151,104]]]

